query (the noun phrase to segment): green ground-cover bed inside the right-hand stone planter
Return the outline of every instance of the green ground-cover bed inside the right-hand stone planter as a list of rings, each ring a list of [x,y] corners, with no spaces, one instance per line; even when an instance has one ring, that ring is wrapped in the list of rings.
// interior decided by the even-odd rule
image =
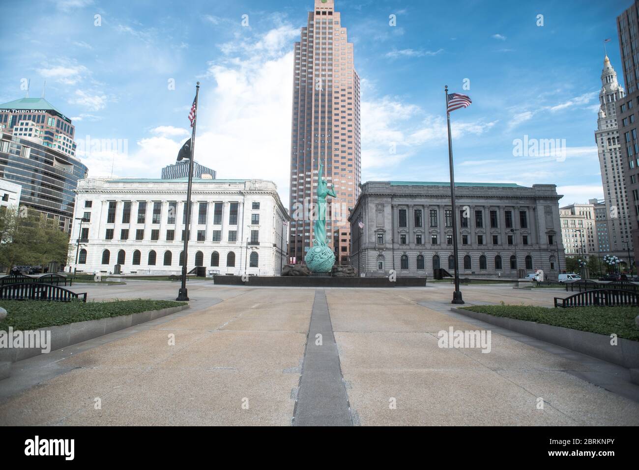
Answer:
[[[495,317],[534,321],[601,335],[616,333],[619,338],[639,341],[639,328],[635,325],[639,308],[636,307],[546,308],[532,305],[472,305],[463,308]]]

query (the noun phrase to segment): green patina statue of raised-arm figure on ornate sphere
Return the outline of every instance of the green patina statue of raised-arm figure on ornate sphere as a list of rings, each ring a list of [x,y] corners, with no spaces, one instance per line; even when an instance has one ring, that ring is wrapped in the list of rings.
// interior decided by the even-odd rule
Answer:
[[[329,273],[335,264],[335,255],[326,239],[326,197],[337,197],[333,188],[328,188],[324,179],[324,165],[319,159],[317,218],[313,224],[313,246],[305,257],[306,265],[314,273]]]

